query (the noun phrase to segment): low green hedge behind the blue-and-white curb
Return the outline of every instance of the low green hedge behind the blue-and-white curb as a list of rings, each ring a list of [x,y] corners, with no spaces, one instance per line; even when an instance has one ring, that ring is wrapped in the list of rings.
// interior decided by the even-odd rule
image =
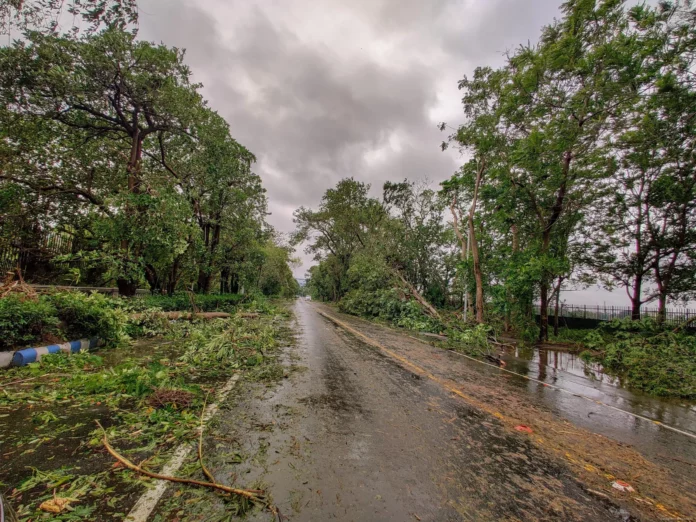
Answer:
[[[113,300],[96,293],[57,292],[36,299],[9,295],[0,299],[0,350],[90,337],[115,344],[125,321]]]

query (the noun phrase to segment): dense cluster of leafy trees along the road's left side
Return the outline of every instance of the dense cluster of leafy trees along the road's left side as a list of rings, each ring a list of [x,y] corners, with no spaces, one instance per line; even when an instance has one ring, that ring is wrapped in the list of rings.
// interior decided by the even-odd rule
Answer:
[[[109,21],[100,9],[90,16]],[[124,295],[146,283],[294,295],[254,155],[190,76],[182,50],[118,24],[1,48],[3,244],[36,254],[48,233],[68,238],[62,266]]]

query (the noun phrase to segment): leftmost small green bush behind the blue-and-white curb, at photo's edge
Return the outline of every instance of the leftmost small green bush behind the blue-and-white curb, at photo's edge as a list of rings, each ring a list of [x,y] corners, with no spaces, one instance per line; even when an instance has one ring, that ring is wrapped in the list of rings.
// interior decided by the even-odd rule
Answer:
[[[0,350],[29,346],[57,333],[56,309],[46,299],[14,294],[0,299]]]

